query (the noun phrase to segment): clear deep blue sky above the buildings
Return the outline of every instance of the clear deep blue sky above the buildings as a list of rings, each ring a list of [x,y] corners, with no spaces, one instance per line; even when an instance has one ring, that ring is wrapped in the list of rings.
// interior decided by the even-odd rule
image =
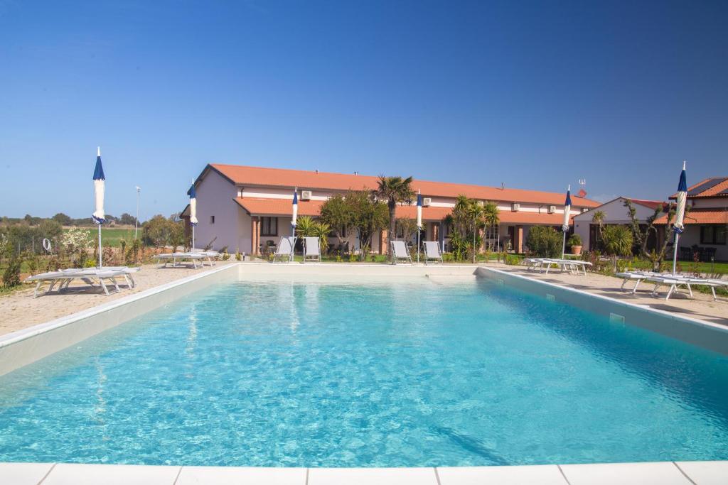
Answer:
[[[665,199],[728,175],[726,1],[0,1],[0,215],[208,162]]]

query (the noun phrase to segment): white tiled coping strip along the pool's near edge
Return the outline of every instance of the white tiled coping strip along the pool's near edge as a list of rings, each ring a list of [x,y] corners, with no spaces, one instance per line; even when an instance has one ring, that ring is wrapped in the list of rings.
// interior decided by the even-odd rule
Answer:
[[[725,485],[728,461],[436,468],[0,463],[8,485]]]

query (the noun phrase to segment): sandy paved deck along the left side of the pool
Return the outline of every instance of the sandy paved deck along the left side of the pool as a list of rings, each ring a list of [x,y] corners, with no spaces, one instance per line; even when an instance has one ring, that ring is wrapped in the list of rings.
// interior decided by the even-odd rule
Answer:
[[[218,261],[212,268],[222,268],[237,261]],[[25,289],[0,296],[0,335],[22,330],[28,326],[71,315],[87,308],[103,303],[118,300],[130,294],[143,292],[180,278],[210,270],[210,266],[202,268],[167,267],[158,268],[158,265],[143,265],[141,271],[132,274],[136,286],[127,289],[126,285],[119,284],[122,291],[112,293],[108,297],[98,285],[93,288],[76,282],[71,284],[69,291],[57,293],[55,289],[50,294],[43,294],[33,298],[33,287],[25,285]],[[46,285],[47,288],[47,285]],[[113,291],[113,290],[111,290]]]

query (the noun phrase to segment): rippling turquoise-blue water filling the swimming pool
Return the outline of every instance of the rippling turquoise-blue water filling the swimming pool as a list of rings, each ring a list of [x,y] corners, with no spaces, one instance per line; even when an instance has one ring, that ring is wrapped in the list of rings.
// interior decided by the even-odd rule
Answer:
[[[728,359],[478,281],[214,286],[0,378],[0,461],[728,459]]]

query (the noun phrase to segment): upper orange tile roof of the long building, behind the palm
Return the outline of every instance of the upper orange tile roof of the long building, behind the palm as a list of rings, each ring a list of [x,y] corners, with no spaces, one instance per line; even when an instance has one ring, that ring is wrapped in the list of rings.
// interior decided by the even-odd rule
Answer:
[[[376,188],[379,177],[371,175],[349,175],[330,172],[311,172],[307,170],[271,169],[265,167],[246,167],[243,165],[209,164],[232,183],[241,185],[274,186],[286,188],[325,189],[347,191]],[[205,173],[204,171],[202,172]],[[526,202],[535,204],[563,205],[565,193],[526,191],[518,188],[495,188],[483,185],[431,182],[414,180],[412,188],[422,191],[423,196],[468,197],[487,201]],[[598,207],[597,201],[571,196],[574,207]]]

